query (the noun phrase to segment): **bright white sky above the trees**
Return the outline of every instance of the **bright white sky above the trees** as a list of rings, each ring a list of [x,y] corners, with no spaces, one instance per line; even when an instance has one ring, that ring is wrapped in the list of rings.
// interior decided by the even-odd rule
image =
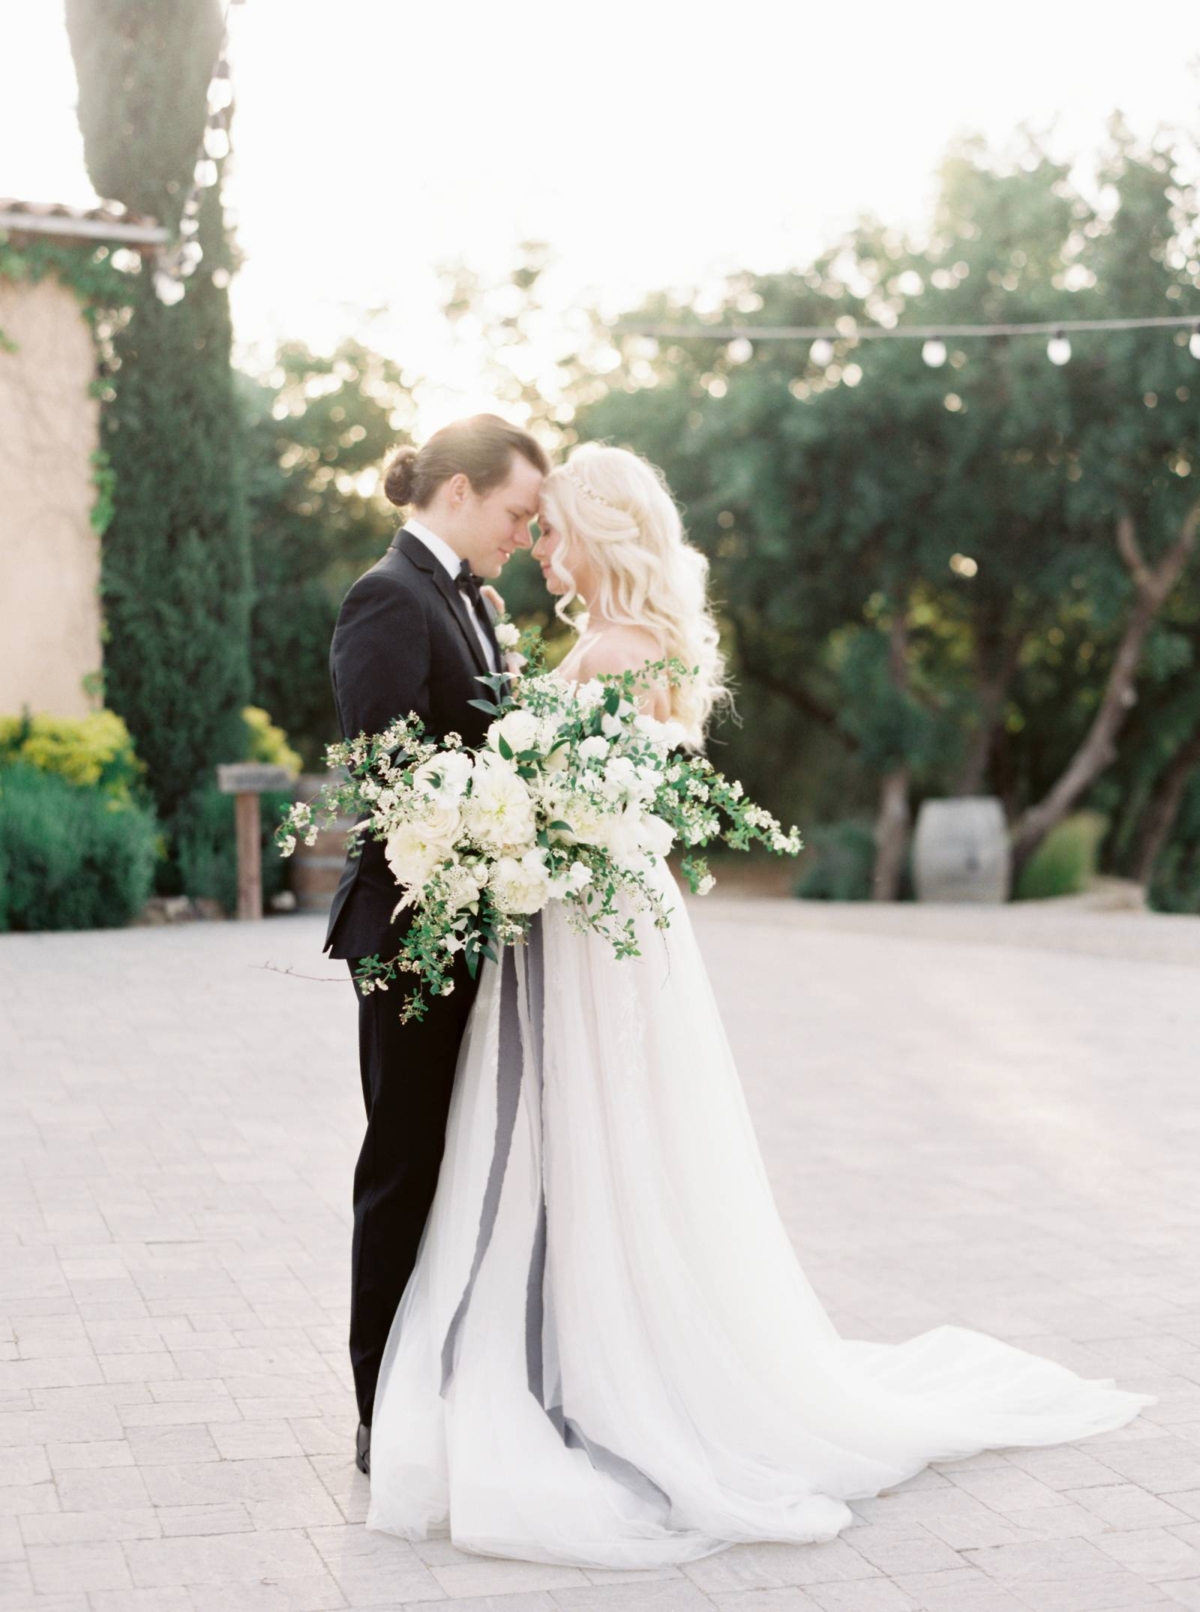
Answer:
[[[61,0],[0,0],[0,195],[90,203]],[[1195,0],[245,0],[232,11],[244,359],[352,332],[429,377],[423,426],[490,405],[437,266],[548,240],[555,308],[805,261],[861,213],[919,222],[955,134],[1113,108],[1200,131]],[[387,308],[371,318],[369,310]]]

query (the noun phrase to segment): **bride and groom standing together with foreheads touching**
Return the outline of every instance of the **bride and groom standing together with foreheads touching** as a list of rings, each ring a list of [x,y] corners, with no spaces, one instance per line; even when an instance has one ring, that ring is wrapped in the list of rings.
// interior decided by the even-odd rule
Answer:
[[[532,545],[585,629],[587,683],[677,656],[645,709],[700,745],[721,695],[703,556],[661,476],[585,445],[550,467],[481,414],[403,448],[411,511],[350,588],[331,667],[340,732],[415,711],[476,746],[505,669],[498,577]],[[490,590],[487,590],[490,593]],[[618,961],[550,903],[521,951],[456,959],[419,1022],[360,996],[350,1357],[368,1527],[492,1556],[639,1568],[735,1541],[829,1539],[931,1460],[1123,1425],[1145,1394],[961,1327],[839,1336],[776,1211],[689,916]],[[326,948],[390,956],[384,846],[347,862]],[[403,916],[398,924],[405,922]],[[513,985],[519,972],[523,987]]]

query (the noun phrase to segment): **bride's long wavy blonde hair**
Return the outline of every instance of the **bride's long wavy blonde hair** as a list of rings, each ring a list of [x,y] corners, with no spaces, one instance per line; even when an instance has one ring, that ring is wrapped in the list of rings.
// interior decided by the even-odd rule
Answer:
[[[550,556],[566,590],[558,616],[577,625],[566,611],[577,598],[571,555],[581,551],[597,577],[587,604],[605,621],[645,627],[666,659],[695,669],[669,693],[671,717],[698,746],[713,706],[726,698],[724,656],[708,604],[708,561],[687,542],[663,472],[631,448],[585,442],[542,482],[542,503],[563,540]]]

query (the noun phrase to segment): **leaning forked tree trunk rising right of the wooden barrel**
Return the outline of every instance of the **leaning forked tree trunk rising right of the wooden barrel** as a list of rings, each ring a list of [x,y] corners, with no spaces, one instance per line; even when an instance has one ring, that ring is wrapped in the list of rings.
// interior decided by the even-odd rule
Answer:
[[[1118,521],[1116,546],[1134,579],[1134,608],[1121,635],[1100,709],[1079,750],[1045,800],[1029,806],[1013,829],[1015,872],[1024,867],[1047,833],[1066,817],[1084,791],[1116,759],[1116,735],[1121,732],[1129,708],[1137,700],[1137,667],[1147,634],[1192,556],[1198,522],[1200,503],[1195,503],[1184,517],[1179,537],[1161,561],[1150,567],[1142,558],[1132,519],[1123,516]]]

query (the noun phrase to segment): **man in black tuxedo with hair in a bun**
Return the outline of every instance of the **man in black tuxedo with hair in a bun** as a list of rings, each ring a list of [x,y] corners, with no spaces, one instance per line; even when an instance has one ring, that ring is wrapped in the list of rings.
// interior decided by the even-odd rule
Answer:
[[[498,577],[518,548],[548,469],[542,448],[495,414],[435,432],[424,448],[400,448],[384,490],[413,514],[384,558],[347,593],[329,671],[345,738],[379,733],[415,711],[431,738],[482,742],[489,698],[479,677],[503,669],[479,579]],[[392,911],[400,891],[384,846],[347,858],[334,895],[326,951],[353,974],[360,958],[392,958],[408,922]],[[397,991],[358,998],[358,1061],[366,1135],[355,1167],[350,1273],[350,1364],[358,1398],[355,1459],[369,1470],[376,1380],[400,1296],[416,1262],[445,1145],[458,1043],[474,998],[461,954],[453,995],[426,1017],[400,1024]]]

